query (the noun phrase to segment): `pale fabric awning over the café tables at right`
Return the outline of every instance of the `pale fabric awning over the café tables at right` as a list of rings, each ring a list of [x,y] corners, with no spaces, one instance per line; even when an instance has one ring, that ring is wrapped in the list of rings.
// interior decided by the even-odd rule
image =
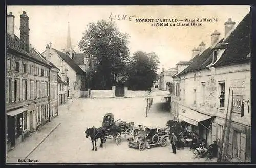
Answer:
[[[198,113],[197,111],[188,111],[179,115],[179,119],[195,126],[198,126],[199,122],[210,119],[212,117],[213,116]]]

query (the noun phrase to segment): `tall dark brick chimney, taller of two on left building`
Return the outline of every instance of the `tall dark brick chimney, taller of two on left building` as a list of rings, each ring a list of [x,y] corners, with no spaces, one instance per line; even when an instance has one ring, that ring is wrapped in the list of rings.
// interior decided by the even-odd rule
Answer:
[[[20,15],[20,47],[29,53],[29,17],[25,11]]]

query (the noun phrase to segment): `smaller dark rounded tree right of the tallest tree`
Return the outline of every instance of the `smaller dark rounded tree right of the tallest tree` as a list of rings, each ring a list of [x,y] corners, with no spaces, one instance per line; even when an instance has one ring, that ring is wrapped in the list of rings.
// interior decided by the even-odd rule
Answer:
[[[126,64],[126,85],[132,90],[150,91],[157,78],[159,63],[154,52],[135,52]]]

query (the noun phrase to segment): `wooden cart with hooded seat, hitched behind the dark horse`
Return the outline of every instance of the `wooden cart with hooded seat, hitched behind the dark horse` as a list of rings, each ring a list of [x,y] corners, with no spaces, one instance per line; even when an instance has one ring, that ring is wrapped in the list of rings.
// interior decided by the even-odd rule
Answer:
[[[134,123],[126,121],[114,121],[114,115],[107,113],[103,117],[102,127],[105,128],[103,143],[106,139],[115,139],[116,144],[119,145],[122,141],[122,134],[127,135],[133,132]]]

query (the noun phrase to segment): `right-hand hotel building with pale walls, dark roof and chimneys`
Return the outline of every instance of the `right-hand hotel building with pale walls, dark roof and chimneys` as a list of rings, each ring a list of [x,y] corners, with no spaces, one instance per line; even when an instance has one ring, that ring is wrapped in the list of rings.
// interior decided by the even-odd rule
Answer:
[[[236,28],[234,24],[228,19],[225,36],[219,39],[220,33],[214,31],[210,47],[201,47],[203,50],[193,55],[190,64],[173,76],[176,92],[172,95],[171,111],[176,120],[189,123],[200,139],[206,139],[207,146],[216,140],[220,147],[226,113],[232,110],[228,138],[225,131],[226,159],[250,162],[250,13]]]

